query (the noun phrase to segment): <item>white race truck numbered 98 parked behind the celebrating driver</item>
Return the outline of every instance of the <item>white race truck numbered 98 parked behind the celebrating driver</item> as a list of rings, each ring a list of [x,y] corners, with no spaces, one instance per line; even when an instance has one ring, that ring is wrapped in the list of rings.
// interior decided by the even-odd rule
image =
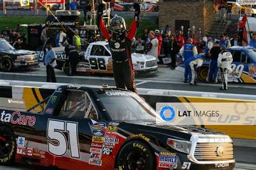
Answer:
[[[64,49],[63,49],[64,50]],[[65,52],[56,52],[57,69],[70,73],[69,60]],[[132,53],[132,63],[136,73],[157,73],[157,59],[146,54]],[[78,73],[113,73],[112,58],[108,42],[92,42],[85,51],[80,53],[77,64]]]

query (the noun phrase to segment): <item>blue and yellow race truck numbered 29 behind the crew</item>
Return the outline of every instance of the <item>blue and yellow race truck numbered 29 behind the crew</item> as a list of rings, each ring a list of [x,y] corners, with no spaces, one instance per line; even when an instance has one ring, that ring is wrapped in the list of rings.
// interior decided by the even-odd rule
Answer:
[[[233,72],[228,75],[228,82],[235,83],[256,83],[256,50],[252,47],[234,46],[228,48],[233,56],[231,68]],[[203,66],[197,72],[198,79],[205,81],[210,60],[205,59]],[[221,80],[220,72],[218,80]]]

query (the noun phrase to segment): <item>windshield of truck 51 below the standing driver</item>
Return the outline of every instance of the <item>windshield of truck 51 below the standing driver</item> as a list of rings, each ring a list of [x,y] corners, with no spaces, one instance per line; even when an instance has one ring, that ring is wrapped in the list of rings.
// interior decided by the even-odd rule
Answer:
[[[156,121],[156,111],[135,93],[98,89],[95,94],[113,121]]]

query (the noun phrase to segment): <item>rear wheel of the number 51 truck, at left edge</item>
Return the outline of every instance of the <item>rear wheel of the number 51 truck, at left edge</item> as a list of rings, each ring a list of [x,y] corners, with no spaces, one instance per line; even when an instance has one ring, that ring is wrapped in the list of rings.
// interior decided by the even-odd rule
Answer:
[[[0,126],[0,165],[10,165],[15,161],[16,140],[14,132],[6,126]]]

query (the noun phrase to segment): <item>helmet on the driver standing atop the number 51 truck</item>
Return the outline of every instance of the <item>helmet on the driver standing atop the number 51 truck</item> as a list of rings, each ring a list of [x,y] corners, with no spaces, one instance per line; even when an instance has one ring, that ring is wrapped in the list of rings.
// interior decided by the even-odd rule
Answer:
[[[123,17],[114,15],[114,17],[111,19],[111,31],[116,34],[123,34],[123,32],[126,31],[126,24]]]

